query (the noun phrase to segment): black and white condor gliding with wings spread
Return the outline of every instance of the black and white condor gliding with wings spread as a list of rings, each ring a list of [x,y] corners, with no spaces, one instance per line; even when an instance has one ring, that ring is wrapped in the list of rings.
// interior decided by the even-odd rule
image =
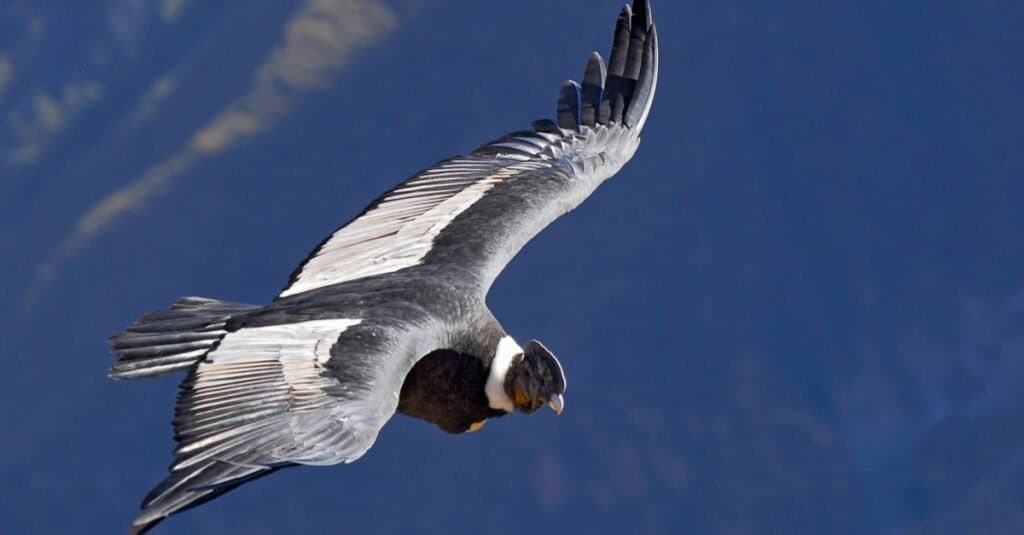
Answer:
[[[114,379],[185,372],[166,479],[129,533],[296,465],[361,457],[400,413],[443,431],[564,408],[565,373],[485,303],[538,233],[629,162],[651,110],[657,32],[626,4],[534,121],[398,183],[317,245],[266,305],[182,297],[109,339]]]

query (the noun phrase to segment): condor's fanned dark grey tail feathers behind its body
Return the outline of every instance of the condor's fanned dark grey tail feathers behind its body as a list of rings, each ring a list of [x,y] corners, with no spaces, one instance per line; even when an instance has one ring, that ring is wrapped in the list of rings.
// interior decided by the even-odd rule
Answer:
[[[111,336],[108,342],[117,360],[108,375],[134,379],[186,369],[223,337],[227,320],[255,308],[258,306],[182,297],[170,310],[146,314]]]

